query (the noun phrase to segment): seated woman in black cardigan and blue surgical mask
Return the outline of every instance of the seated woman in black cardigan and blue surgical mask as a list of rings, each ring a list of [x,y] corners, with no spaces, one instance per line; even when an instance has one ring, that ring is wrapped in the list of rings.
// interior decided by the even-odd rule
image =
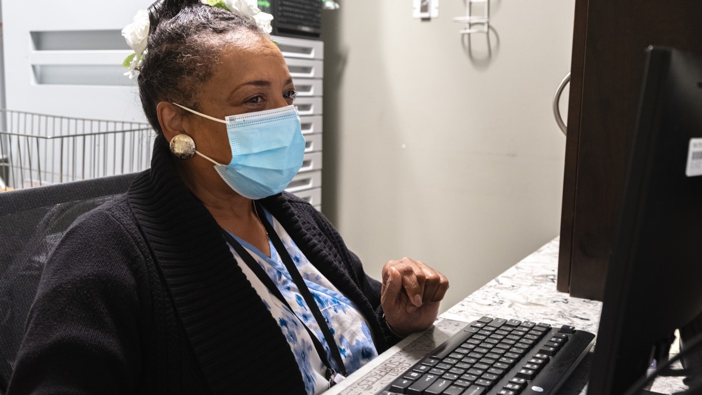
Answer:
[[[444,276],[404,258],[381,286],[282,193],[303,147],[267,32],[197,0],[149,12],[152,168],[48,259],[9,394],[314,394],[428,328]]]

